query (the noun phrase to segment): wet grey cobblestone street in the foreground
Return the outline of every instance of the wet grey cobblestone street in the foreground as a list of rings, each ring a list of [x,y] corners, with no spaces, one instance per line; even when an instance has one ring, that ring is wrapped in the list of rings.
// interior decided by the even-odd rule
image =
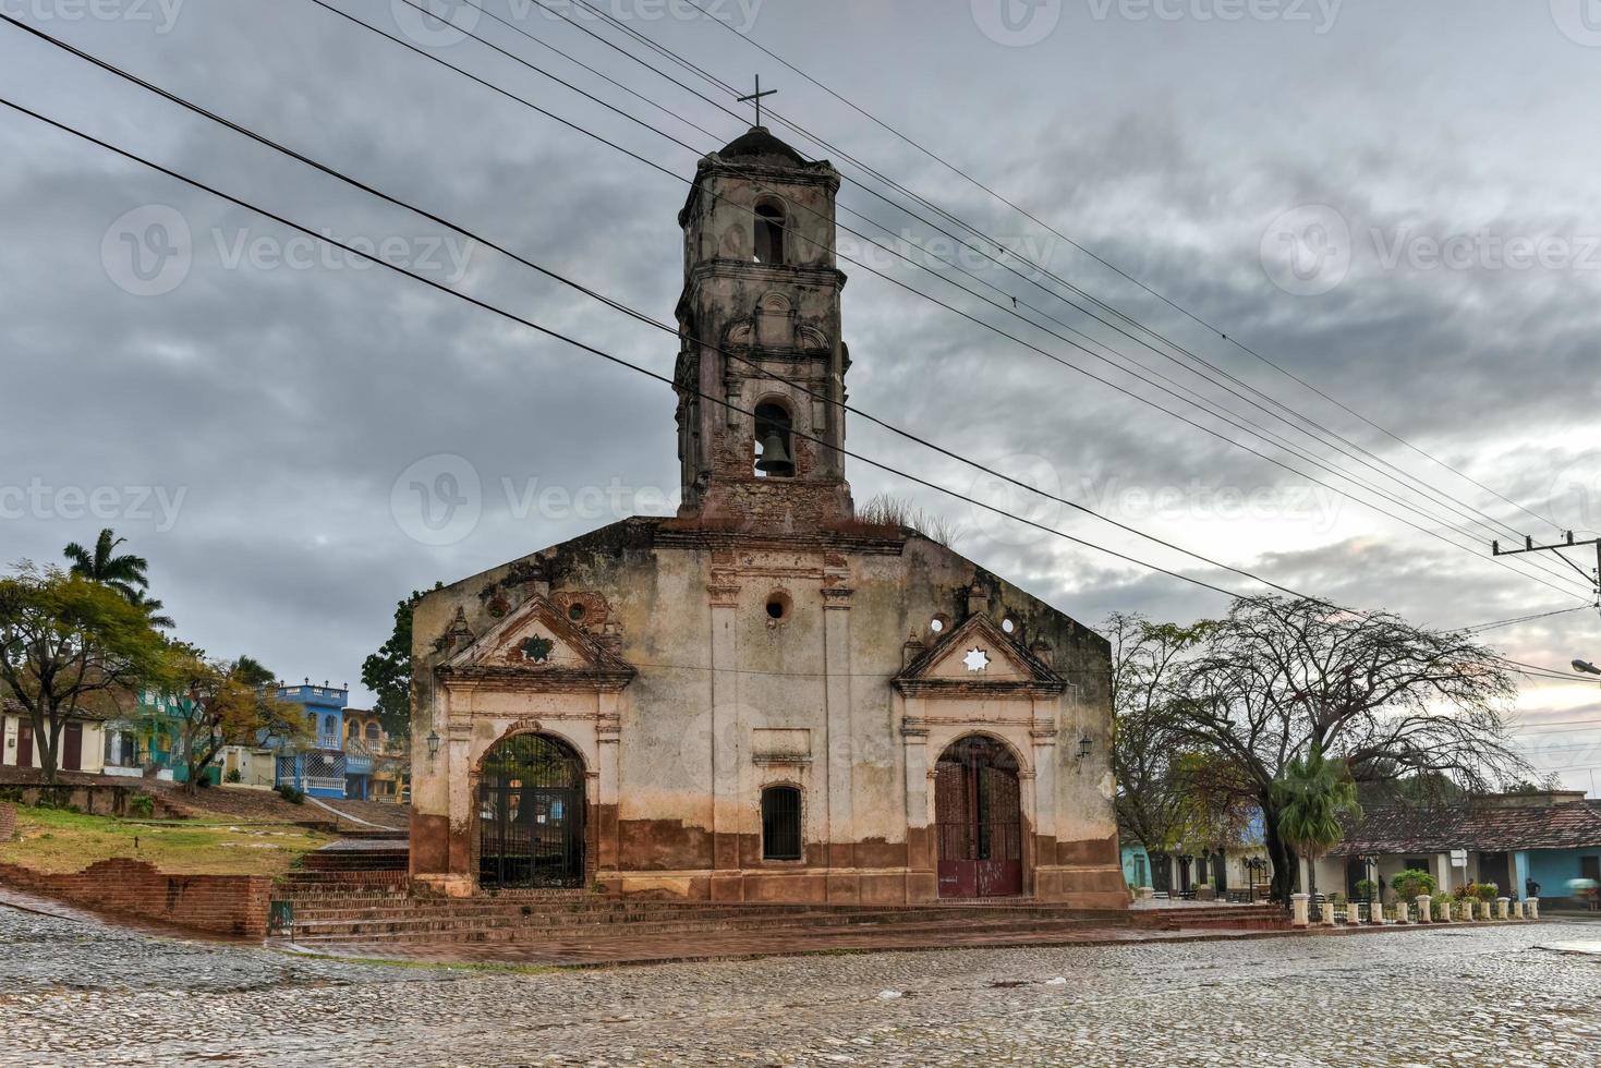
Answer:
[[[402,967],[0,906],[0,1065],[1583,1065],[1595,924]]]

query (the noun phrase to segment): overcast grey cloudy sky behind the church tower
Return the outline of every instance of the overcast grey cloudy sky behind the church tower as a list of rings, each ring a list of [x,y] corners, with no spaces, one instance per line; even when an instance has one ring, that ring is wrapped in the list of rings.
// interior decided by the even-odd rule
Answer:
[[[1467,626],[1583,604],[1583,581],[1556,559],[1532,568],[1487,559],[1494,533],[1483,525],[1499,524],[1508,543],[1601,528],[1601,149],[1591,136],[1601,22],[1582,18],[1583,0],[700,0],[1057,232],[684,0],[594,2],[724,82],[760,74],[764,88],[780,90],[770,107],[834,147],[768,125],[807,155],[834,159],[842,205],[871,219],[847,211],[841,221],[884,240],[874,224],[887,227],[932,271],[844,232],[841,251],[1028,343],[842,263],[855,405],[1351,607]],[[328,3],[677,178],[311,0],[0,0],[0,11],[672,319],[682,179],[701,152],[743,131],[746,107],[674,69],[736,107],[730,115],[629,61],[618,48],[644,46],[576,0],[546,0],[552,11],[484,0],[544,46],[482,13],[455,18],[693,151],[442,32],[405,0]],[[11,26],[0,26],[0,96],[671,373],[672,338]],[[354,685],[413,588],[634,511],[671,511],[674,402],[660,383],[0,112],[5,562],[56,560],[66,541],[115,527],[150,559],[154,594],[184,637],[258,656],[283,677]],[[1084,298],[1073,296],[1151,347],[1049,295],[1060,287],[1031,283],[1039,275],[1017,259],[1007,271],[957,250],[868,194],[847,154],[1234,376],[1231,389],[1262,407],[1204,383],[1188,354]],[[930,242],[981,282],[914,250]],[[1085,343],[1101,362],[1023,322],[1007,307],[1013,296],[1020,315],[1116,354]],[[1126,357],[1180,395],[1114,370]],[[1191,407],[1191,391],[1265,437]],[[1303,434],[1302,416],[1359,460]],[[850,444],[1074,536],[1260,589],[861,421]],[[1406,476],[1426,480],[1436,500]],[[1079,620],[1113,610],[1193,620],[1226,607],[865,464],[850,477],[858,501],[892,492],[945,514],[964,528],[961,551]],[[416,484],[461,500],[455,519],[424,522]],[[1574,559],[1595,564],[1587,552]],[[1489,636],[1511,656],[1563,671],[1574,656],[1601,660],[1593,610]],[[1521,741],[1574,786],[1593,786],[1601,765],[1601,732],[1571,725],[1601,721],[1598,697],[1593,684],[1539,682],[1519,703]]]

